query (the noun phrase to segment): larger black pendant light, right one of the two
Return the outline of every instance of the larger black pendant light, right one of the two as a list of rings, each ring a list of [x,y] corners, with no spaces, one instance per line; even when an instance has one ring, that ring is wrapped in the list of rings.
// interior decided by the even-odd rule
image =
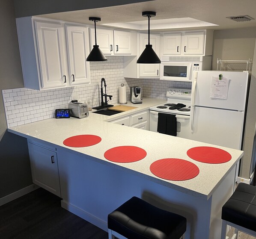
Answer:
[[[155,12],[142,12],[143,17],[151,18],[155,17]],[[149,35],[150,40],[150,35]],[[137,60],[137,63],[143,63],[143,64],[158,64],[161,63],[161,60],[158,58],[158,55],[155,53],[155,51],[152,48],[152,45],[148,43],[146,45],[145,50],[143,50],[143,53],[141,53],[140,57]]]

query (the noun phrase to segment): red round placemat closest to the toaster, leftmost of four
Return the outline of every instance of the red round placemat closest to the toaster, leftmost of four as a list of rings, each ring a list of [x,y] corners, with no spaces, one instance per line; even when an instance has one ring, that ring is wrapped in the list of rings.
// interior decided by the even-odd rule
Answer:
[[[83,134],[69,137],[63,141],[63,144],[69,147],[88,147],[101,142],[101,137],[91,134]]]

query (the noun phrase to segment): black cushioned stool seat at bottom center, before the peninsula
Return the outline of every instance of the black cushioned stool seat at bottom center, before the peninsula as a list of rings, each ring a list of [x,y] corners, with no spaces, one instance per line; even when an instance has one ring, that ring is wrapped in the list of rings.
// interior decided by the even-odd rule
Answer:
[[[132,197],[108,215],[110,230],[128,239],[179,239],[187,220],[181,215],[155,207]]]

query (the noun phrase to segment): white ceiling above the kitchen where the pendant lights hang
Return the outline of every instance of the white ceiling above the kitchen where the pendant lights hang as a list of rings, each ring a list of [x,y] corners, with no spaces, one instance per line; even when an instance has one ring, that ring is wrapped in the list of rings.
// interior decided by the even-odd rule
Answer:
[[[198,29],[234,29],[245,27],[256,27],[256,20],[246,22],[232,21],[226,17],[249,15],[256,19],[256,0],[153,0],[143,3],[133,3],[121,6],[113,6],[97,9],[86,9],[73,12],[60,12],[53,14],[39,15],[40,17],[59,19],[63,21],[93,24],[89,17],[99,17],[100,24],[127,23],[127,29],[146,30],[147,21],[142,16],[143,11],[154,11],[156,16],[151,18],[151,30],[198,30]],[[174,18],[174,19],[173,19]],[[180,18],[180,19],[179,19]],[[184,25],[184,19],[188,18],[192,27]],[[208,22],[216,26],[205,27],[200,22],[200,27],[195,27],[194,20]],[[172,19],[175,25],[161,19]],[[156,27],[154,27],[154,21]],[[134,22],[134,23],[131,23]],[[144,26],[143,26],[144,24]],[[175,27],[174,27],[175,26]],[[120,25],[119,25],[120,27]]]

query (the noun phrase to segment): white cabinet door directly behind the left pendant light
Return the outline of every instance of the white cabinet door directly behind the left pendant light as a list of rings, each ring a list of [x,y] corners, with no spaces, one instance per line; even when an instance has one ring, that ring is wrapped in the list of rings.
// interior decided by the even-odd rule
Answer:
[[[113,30],[107,29],[98,29],[96,30],[97,34],[97,44],[101,51],[106,55],[113,54]],[[91,49],[95,45],[95,30],[94,28],[90,29],[90,38],[91,38]]]

